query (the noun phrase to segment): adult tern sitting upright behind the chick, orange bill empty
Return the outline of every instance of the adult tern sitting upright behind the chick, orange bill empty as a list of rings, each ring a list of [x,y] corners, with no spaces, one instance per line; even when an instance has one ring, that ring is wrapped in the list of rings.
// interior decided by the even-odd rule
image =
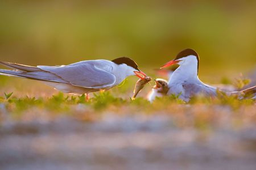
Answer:
[[[217,87],[209,86],[199,79],[199,62],[200,58],[195,50],[185,49],[177,54],[175,59],[167,62],[160,68],[175,64],[180,65],[169,78],[167,95],[179,95],[180,99],[184,101],[189,101],[192,96],[199,94],[207,96],[217,95]],[[227,94],[242,94],[245,92],[255,93],[256,86],[245,91],[227,92]]]

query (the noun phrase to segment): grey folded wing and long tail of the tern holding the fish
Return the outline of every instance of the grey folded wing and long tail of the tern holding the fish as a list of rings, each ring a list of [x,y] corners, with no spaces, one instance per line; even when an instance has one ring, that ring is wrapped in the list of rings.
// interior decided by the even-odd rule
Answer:
[[[85,88],[112,87],[115,76],[100,69],[104,63],[97,61],[73,63],[67,66],[26,66],[17,63],[0,62],[0,64],[16,70],[0,69],[0,74],[36,79],[48,82],[67,83]],[[97,67],[97,66],[98,67]]]

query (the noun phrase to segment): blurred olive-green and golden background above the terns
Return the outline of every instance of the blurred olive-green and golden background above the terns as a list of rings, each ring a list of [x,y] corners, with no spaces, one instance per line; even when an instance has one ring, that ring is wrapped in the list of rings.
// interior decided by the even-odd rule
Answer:
[[[1,1],[0,20],[1,61],[129,56],[149,70],[193,48],[201,76],[246,73],[256,63],[256,1]]]

